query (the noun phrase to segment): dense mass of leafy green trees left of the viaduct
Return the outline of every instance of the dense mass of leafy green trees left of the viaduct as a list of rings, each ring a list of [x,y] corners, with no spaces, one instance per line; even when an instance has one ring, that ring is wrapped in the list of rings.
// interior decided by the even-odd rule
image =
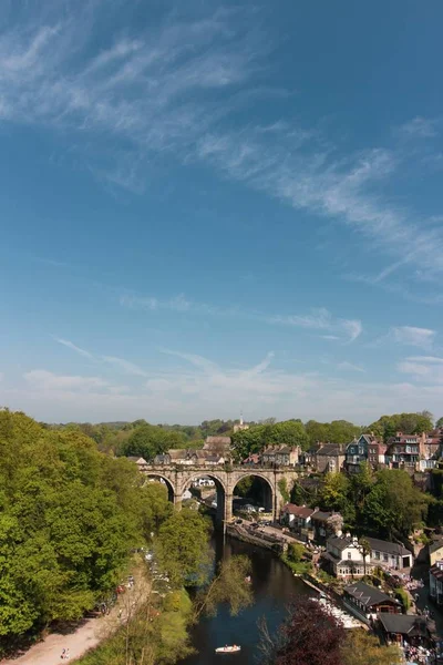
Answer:
[[[0,651],[113,589],[167,512],[142,483],[81,428],[0,410]]]

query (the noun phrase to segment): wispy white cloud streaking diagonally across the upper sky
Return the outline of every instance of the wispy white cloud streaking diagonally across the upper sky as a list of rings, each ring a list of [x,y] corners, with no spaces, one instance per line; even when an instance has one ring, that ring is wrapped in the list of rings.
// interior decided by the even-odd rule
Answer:
[[[94,173],[134,191],[143,188],[159,153],[182,164],[212,165],[296,209],[348,226],[367,247],[392,256],[374,284],[403,264],[443,272],[442,227],[378,191],[404,167],[404,147],[369,146],[343,155],[317,126],[301,126],[292,117],[231,129],[238,126],[238,95],[262,89],[259,74],[270,48],[247,9],[220,9],[187,21],[171,14],[132,34],[123,27],[97,52],[94,30],[105,6],[79,2],[75,13],[72,4],[52,7],[22,13],[0,34],[4,122],[75,135]],[[436,127],[435,119],[418,116],[400,132],[433,137]],[[144,306],[158,305],[147,299]],[[175,304],[181,306],[186,303]]]

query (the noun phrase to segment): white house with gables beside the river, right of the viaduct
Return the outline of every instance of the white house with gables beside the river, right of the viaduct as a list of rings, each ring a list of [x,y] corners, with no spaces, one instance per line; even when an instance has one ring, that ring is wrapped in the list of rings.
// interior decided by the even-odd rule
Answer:
[[[362,548],[356,536],[330,535],[326,541],[323,559],[328,562],[330,572],[336,577],[362,577],[369,574],[373,565],[371,555],[363,557]]]

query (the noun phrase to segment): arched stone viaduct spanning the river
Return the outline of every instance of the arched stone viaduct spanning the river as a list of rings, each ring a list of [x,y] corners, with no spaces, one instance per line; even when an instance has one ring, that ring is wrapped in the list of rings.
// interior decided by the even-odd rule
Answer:
[[[261,478],[264,481],[265,508],[272,513],[276,520],[279,516],[280,509],[285,503],[279,488],[281,480],[287,481],[290,490],[297,472],[288,467],[215,467],[215,466],[148,466],[144,473],[150,478],[163,479],[168,488],[169,499],[179,510],[182,508],[183,493],[189,489],[193,480],[203,475],[210,478],[215,482],[217,490],[217,516],[219,525],[226,524],[233,519],[233,498],[236,484],[244,478]]]

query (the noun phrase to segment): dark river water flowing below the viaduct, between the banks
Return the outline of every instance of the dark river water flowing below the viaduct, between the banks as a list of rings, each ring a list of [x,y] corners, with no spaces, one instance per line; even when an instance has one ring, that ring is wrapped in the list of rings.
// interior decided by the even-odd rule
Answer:
[[[257,665],[259,651],[258,621],[266,616],[270,632],[275,632],[286,616],[286,610],[295,595],[312,591],[268,550],[216,535],[213,541],[216,560],[247,554],[251,560],[254,605],[237,616],[230,616],[226,606],[215,617],[203,618],[192,631],[192,642],[197,653],[179,662],[179,665]],[[240,654],[216,655],[215,649],[225,644],[238,644]]]

